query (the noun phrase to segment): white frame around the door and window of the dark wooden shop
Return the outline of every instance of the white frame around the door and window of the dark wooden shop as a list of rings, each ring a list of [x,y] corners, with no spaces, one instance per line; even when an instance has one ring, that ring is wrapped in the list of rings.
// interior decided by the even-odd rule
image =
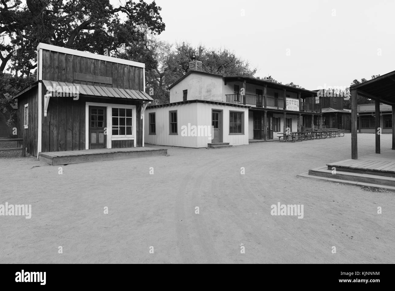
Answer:
[[[89,106],[101,106],[107,108],[107,145],[106,149],[111,149],[111,141],[113,140],[133,140],[134,147],[136,147],[136,106],[128,104],[114,104],[114,103],[98,103],[98,102],[85,102],[85,149],[89,149]],[[119,136],[112,137],[112,127],[113,127],[113,113],[112,109],[115,108],[127,108],[132,109],[132,119],[133,119],[133,135],[132,136]]]

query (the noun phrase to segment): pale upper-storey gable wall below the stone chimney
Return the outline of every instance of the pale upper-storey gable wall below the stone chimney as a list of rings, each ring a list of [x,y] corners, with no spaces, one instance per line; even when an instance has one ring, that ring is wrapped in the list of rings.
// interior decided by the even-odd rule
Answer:
[[[182,91],[188,90],[187,100],[222,101],[222,77],[191,73],[170,89],[170,103],[182,101]]]

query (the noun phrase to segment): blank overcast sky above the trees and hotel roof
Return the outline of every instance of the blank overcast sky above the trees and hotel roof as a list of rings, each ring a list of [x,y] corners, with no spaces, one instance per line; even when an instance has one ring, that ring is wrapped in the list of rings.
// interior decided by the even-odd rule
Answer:
[[[151,2],[151,1],[148,1]],[[159,38],[226,47],[283,84],[348,86],[395,70],[395,1],[156,0]],[[244,12],[244,16],[243,16]]]

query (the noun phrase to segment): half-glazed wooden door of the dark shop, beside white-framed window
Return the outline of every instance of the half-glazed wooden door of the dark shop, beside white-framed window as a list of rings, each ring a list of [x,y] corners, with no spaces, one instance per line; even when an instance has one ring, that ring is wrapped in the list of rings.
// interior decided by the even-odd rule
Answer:
[[[105,149],[107,137],[104,128],[107,127],[107,108],[89,106],[89,149]]]

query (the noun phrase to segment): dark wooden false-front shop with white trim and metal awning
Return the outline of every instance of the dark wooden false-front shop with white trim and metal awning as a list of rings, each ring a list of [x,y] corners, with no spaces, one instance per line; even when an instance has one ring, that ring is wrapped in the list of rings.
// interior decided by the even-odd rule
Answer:
[[[144,146],[145,64],[40,43],[18,99],[28,153]]]

